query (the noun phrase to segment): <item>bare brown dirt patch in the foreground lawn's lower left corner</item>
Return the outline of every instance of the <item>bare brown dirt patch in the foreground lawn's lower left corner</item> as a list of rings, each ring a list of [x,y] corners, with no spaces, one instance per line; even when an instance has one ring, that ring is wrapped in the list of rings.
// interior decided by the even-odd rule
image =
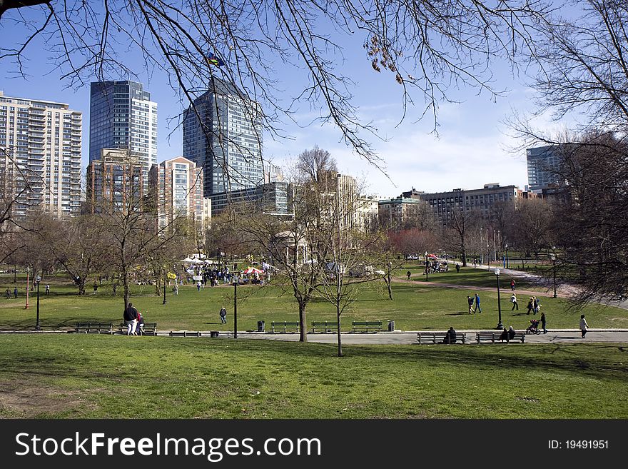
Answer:
[[[16,379],[0,381],[0,418],[35,418],[83,405],[79,391]]]

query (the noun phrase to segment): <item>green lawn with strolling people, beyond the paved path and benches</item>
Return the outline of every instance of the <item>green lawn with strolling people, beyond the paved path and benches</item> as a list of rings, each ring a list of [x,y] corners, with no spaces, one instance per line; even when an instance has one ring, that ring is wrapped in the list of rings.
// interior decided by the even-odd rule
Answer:
[[[442,276],[456,276],[442,273]],[[460,272],[460,283],[477,278],[480,274]],[[491,274],[495,277],[494,274]],[[431,279],[431,276],[430,276]],[[6,286],[12,290],[12,278],[0,278],[0,291]],[[91,289],[88,289],[91,290]],[[157,322],[159,331],[231,331],[233,330],[233,286],[206,287],[200,292],[194,286],[183,286],[178,296],[168,289],[166,305],[156,296],[153,286],[134,286],[131,301],[146,321]],[[480,291],[482,314],[467,312],[467,295],[476,290],[470,288],[444,288],[426,286],[421,281],[393,284],[393,301],[388,299],[383,283],[362,286],[358,301],[343,313],[343,329],[350,330],[351,321],[392,319],[395,328],[402,331],[440,330],[454,326],[462,329],[490,329],[497,324],[497,289]],[[502,290],[502,321],[506,326],[525,329],[533,315],[526,314],[526,296],[519,297],[520,310],[510,311],[510,288]],[[0,298],[0,330],[31,330],[36,322],[36,297],[31,293],[29,309],[24,309],[24,288],[17,300]],[[226,325],[221,325],[218,311],[225,306],[228,311]],[[98,295],[88,291],[77,296],[76,288],[67,281],[51,281],[51,295],[40,291],[40,320],[44,330],[74,328],[77,321],[122,321],[123,300],[119,294],[112,296],[111,288],[101,286]],[[542,311],[547,316],[547,327],[577,328],[580,311],[569,309],[564,298],[542,298]],[[592,328],[628,328],[628,311],[619,308],[592,305],[584,309]],[[307,309],[308,324],[312,321],[334,321],[335,310],[330,303],[315,299]],[[253,331],[257,321],[263,320],[267,330],[271,321],[298,321],[298,307],[290,293],[275,286],[238,287],[238,330]]]

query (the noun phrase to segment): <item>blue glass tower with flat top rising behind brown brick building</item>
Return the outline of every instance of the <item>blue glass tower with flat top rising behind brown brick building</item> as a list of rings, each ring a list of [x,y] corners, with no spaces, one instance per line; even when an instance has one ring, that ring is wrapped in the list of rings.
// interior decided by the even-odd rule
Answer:
[[[131,151],[143,166],[143,187],[148,171],[157,163],[157,103],[135,81],[98,81],[91,84],[89,161],[100,158],[103,148]]]

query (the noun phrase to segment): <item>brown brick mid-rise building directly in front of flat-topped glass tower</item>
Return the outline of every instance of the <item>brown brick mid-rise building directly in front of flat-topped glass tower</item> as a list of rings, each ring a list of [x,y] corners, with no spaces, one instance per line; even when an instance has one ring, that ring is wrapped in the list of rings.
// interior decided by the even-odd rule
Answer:
[[[102,148],[87,167],[87,203],[91,212],[143,210],[143,164],[127,149]]]

